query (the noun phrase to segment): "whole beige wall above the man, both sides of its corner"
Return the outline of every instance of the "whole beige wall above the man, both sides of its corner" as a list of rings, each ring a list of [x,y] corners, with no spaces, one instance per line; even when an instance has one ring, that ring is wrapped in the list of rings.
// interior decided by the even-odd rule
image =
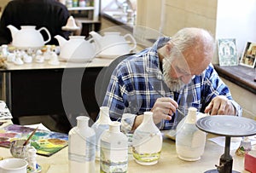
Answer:
[[[137,0],[137,25],[171,36],[183,27],[203,27],[214,35],[218,0]]]

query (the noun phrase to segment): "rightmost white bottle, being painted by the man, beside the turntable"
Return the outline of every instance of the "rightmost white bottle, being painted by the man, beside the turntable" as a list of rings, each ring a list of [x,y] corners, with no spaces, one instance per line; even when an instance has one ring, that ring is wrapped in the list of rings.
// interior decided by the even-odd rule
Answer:
[[[176,151],[179,159],[196,161],[201,159],[206,145],[206,133],[196,126],[196,108],[189,107],[189,112],[182,125],[177,130]]]

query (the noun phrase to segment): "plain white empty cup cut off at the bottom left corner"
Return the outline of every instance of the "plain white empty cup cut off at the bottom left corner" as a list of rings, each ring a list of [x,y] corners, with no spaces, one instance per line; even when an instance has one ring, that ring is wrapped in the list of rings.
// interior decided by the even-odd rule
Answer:
[[[25,159],[9,158],[0,161],[1,173],[26,173]]]

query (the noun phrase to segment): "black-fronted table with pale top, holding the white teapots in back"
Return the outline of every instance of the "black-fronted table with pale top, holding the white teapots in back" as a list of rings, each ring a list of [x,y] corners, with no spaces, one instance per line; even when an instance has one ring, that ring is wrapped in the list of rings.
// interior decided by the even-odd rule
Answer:
[[[6,61],[6,68],[0,71],[3,74],[3,100],[12,112],[14,123],[19,124],[19,118],[25,115],[61,114],[66,116],[67,113],[81,112],[95,119],[99,108],[95,92],[92,90],[95,89],[98,73],[113,60],[93,58],[90,62],[83,63],[60,61],[56,66],[49,65],[48,61],[23,65]],[[64,75],[65,78],[63,78]],[[63,87],[63,84],[70,85]],[[66,95],[62,95],[63,93]],[[75,94],[81,95],[81,103],[73,97]],[[77,104],[69,104],[72,106],[67,109],[63,106],[63,100],[73,100],[72,102]],[[75,118],[71,121],[75,122]]]

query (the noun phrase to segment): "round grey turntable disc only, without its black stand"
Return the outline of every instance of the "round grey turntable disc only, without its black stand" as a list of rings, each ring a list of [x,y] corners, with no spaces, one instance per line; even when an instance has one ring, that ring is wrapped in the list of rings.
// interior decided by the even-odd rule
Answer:
[[[249,118],[230,115],[215,115],[200,118],[196,122],[198,129],[218,136],[256,135],[256,121]]]

